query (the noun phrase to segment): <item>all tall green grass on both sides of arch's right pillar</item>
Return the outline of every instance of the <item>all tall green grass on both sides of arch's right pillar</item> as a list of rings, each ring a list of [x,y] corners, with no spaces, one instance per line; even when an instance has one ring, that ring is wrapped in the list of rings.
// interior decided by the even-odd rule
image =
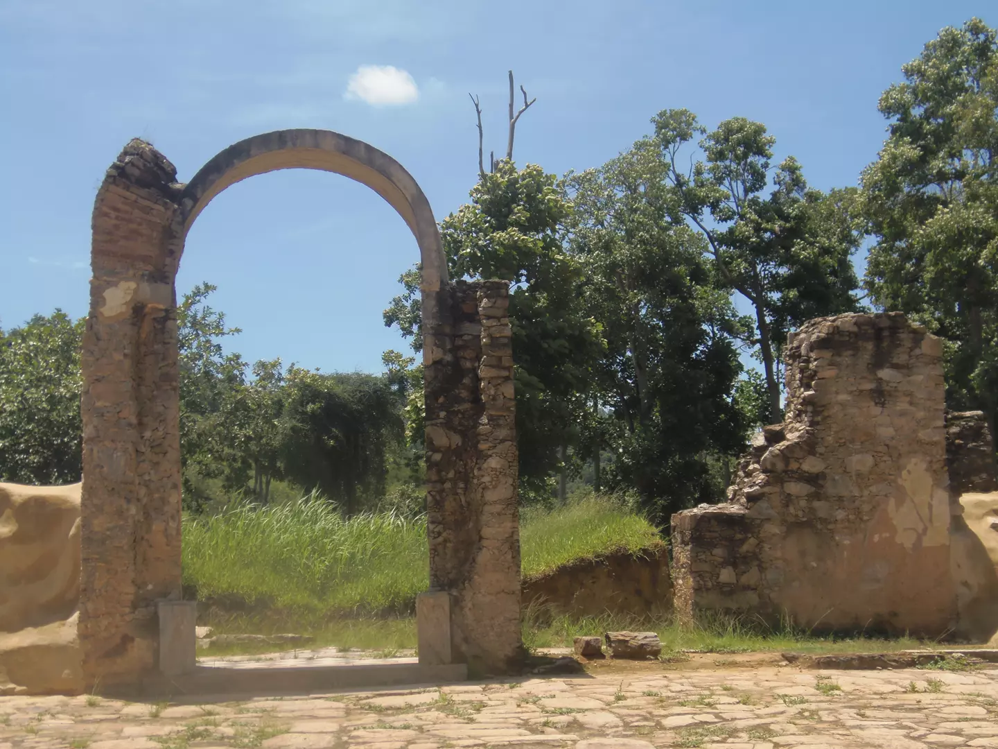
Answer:
[[[661,543],[625,502],[596,495],[524,512],[521,538],[525,575]],[[314,494],[184,518],[184,581],[201,599],[311,614],[402,613],[428,585],[428,554],[425,517],[389,511],[344,518]]]

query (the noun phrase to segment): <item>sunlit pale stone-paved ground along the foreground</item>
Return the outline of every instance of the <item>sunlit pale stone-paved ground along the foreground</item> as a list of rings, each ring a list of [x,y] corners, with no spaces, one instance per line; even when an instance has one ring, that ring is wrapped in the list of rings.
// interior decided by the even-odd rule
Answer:
[[[0,749],[998,747],[998,669],[596,671],[196,705],[0,697]]]

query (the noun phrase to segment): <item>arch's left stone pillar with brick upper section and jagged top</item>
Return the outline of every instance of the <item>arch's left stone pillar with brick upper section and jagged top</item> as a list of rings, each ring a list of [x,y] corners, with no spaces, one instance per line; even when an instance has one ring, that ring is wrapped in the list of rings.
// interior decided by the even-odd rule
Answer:
[[[88,683],[156,665],[156,601],[181,592],[176,170],[133,141],[93,219],[82,352],[80,644]]]

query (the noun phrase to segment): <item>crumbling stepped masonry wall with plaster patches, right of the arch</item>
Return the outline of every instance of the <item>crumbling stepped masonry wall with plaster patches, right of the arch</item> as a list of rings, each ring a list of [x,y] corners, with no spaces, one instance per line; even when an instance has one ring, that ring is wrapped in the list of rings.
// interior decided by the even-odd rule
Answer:
[[[673,516],[677,611],[950,629],[941,354],[899,313],[822,318],[790,334],[785,420],[753,438],[728,503]]]

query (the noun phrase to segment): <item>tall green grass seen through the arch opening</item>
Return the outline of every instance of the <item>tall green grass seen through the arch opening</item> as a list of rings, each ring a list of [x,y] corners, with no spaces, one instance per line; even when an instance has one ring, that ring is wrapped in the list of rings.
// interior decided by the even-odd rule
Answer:
[[[343,518],[311,495],[184,520],[184,581],[201,598],[281,608],[405,611],[428,582],[426,522],[394,512]]]

